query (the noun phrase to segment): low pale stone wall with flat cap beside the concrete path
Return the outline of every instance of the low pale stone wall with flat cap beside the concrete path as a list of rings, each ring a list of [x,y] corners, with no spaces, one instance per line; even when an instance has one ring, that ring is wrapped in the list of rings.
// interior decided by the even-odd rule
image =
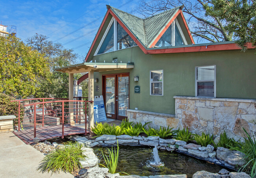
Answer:
[[[0,116],[0,133],[13,131],[13,119],[16,116]]]

